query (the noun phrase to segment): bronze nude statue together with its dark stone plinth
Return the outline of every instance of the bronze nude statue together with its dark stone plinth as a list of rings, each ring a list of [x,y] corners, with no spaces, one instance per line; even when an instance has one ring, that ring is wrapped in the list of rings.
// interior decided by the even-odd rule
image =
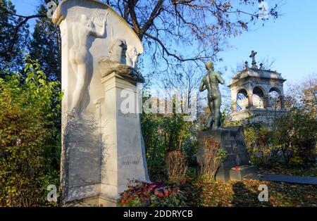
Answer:
[[[208,105],[210,115],[207,127],[210,129],[199,134],[199,151],[197,161],[199,165],[204,164],[205,140],[213,137],[220,148],[227,151],[228,157],[221,163],[216,178],[223,181],[231,179],[241,180],[256,174],[256,167],[251,166],[249,153],[244,141],[242,127],[220,128],[220,106],[221,94],[218,84],[224,84],[225,81],[218,72],[213,71],[213,63],[206,63],[207,74],[201,80],[199,90],[208,91]]]

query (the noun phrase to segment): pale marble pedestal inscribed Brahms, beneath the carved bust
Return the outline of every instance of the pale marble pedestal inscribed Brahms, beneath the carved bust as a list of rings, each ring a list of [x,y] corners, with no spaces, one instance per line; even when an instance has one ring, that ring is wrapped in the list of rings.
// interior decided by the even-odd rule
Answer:
[[[128,180],[149,182],[138,110],[137,82],[113,72],[102,79],[105,91],[101,196],[118,198]]]

